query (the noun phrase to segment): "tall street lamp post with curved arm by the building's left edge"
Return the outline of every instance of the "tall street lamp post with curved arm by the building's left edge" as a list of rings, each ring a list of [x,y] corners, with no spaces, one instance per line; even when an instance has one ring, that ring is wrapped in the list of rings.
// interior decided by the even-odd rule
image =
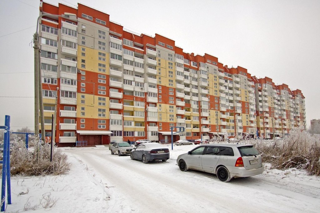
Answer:
[[[62,15],[54,15],[49,13],[41,14],[37,19],[37,28],[36,33],[33,35],[33,41],[34,41],[34,61],[35,61],[35,135],[39,135],[39,111],[41,114],[41,133],[43,135],[43,138],[45,136],[45,130],[44,130],[44,114],[43,114],[43,102],[42,102],[42,79],[41,79],[41,69],[40,69],[40,46],[39,46],[39,21],[40,18],[46,16],[49,18],[58,18],[63,17],[65,19],[69,20],[77,20],[76,14],[73,13],[67,13],[65,12]]]

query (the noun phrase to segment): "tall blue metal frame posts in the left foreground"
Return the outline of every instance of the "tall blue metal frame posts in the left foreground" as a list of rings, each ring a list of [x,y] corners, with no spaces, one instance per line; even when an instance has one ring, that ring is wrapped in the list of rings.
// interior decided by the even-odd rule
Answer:
[[[3,161],[2,161],[2,185],[1,185],[1,211],[5,207],[5,184],[7,182],[7,197],[8,204],[11,204],[11,181],[10,181],[10,116],[5,116],[5,126],[0,126],[4,129],[4,146],[3,146]]]

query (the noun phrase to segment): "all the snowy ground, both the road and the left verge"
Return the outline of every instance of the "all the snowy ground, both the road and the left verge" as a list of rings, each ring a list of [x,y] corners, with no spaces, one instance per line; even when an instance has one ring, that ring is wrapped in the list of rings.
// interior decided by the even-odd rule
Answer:
[[[267,165],[261,175],[223,183],[180,171],[178,155],[195,146],[170,145],[167,162],[148,164],[111,155],[108,147],[63,148],[69,174],[13,176],[6,212],[319,212],[319,177]]]

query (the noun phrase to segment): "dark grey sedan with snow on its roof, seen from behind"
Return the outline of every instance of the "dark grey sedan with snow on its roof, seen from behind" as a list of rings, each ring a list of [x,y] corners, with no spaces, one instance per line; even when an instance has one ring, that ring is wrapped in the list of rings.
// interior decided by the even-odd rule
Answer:
[[[131,160],[142,160],[143,163],[149,161],[167,161],[170,158],[169,149],[159,143],[141,143],[133,148],[130,154]]]

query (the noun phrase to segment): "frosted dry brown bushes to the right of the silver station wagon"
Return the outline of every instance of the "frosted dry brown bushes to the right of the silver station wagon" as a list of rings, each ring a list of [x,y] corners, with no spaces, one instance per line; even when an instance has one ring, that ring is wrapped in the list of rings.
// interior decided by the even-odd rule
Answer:
[[[249,140],[255,145],[264,162],[272,168],[305,169],[309,175],[320,175],[320,138],[310,135],[302,127],[290,131],[283,140]]]

